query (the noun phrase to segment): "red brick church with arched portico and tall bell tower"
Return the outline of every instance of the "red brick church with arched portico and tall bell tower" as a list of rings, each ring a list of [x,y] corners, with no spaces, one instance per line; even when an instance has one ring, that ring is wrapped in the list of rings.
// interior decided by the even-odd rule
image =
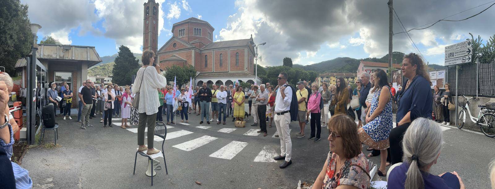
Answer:
[[[173,36],[158,49],[158,3],[144,4],[143,51],[156,52],[161,67],[193,65],[198,71],[195,84],[233,84],[233,81],[261,83],[254,76],[254,46],[249,39],[213,42],[215,30],[208,22],[188,18],[172,26]]]

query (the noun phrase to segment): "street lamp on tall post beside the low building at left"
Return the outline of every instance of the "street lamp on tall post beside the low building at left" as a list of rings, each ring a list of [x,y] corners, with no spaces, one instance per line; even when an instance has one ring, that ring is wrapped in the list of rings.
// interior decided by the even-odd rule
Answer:
[[[28,73],[28,89],[27,91],[27,100],[26,100],[26,116],[27,116],[27,141],[28,144],[33,144],[35,142],[35,135],[36,135],[36,115],[35,115],[35,109],[36,105],[34,102],[34,97],[35,97],[35,86],[36,86],[36,51],[38,50],[38,45],[36,41],[36,34],[38,33],[38,30],[41,28],[39,24],[29,24],[29,27],[31,29],[31,33],[33,33],[33,47],[31,48],[31,56],[28,57],[31,59],[30,61],[27,61],[27,73]],[[40,121],[41,122],[41,121]]]

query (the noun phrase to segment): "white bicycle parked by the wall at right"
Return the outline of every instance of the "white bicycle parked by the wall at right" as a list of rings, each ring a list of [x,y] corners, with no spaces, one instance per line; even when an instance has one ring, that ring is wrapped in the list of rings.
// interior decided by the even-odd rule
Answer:
[[[466,122],[466,111],[469,114],[470,120],[475,123],[477,126],[481,128],[483,134],[488,137],[495,137],[495,110],[489,109],[486,106],[478,105],[480,108],[480,112],[478,113],[478,117],[473,117],[471,115],[471,111],[469,110],[469,100],[476,100],[476,97],[468,98],[462,95],[466,100],[459,101],[459,111],[457,115],[457,128],[461,129]],[[483,115],[482,115],[483,114]],[[481,116],[480,116],[481,115]]]

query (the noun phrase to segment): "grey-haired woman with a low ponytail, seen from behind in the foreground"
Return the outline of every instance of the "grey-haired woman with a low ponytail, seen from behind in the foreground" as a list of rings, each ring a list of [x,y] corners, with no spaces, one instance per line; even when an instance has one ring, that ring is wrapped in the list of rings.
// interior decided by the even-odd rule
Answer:
[[[465,189],[457,172],[437,175],[430,169],[442,151],[443,131],[433,120],[418,118],[402,139],[404,163],[395,167],[388,179],[389,189]]]

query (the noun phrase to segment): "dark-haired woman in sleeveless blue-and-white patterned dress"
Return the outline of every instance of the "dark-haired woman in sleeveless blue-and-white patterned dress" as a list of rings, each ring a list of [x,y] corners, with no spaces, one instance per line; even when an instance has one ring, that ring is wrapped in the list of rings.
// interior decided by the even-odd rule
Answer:
[[[366,115],[365,126],[359,128],[359,139],[369,147],[380,150],[381,164],[378,175],[385,177],[387,165],[387,148],[389,133],[392,130],[392,93],[387,83],[387,73],[382,69],[375,70],[375,87],[370,111]],[[370,91],[371,92],[371,91]]]

